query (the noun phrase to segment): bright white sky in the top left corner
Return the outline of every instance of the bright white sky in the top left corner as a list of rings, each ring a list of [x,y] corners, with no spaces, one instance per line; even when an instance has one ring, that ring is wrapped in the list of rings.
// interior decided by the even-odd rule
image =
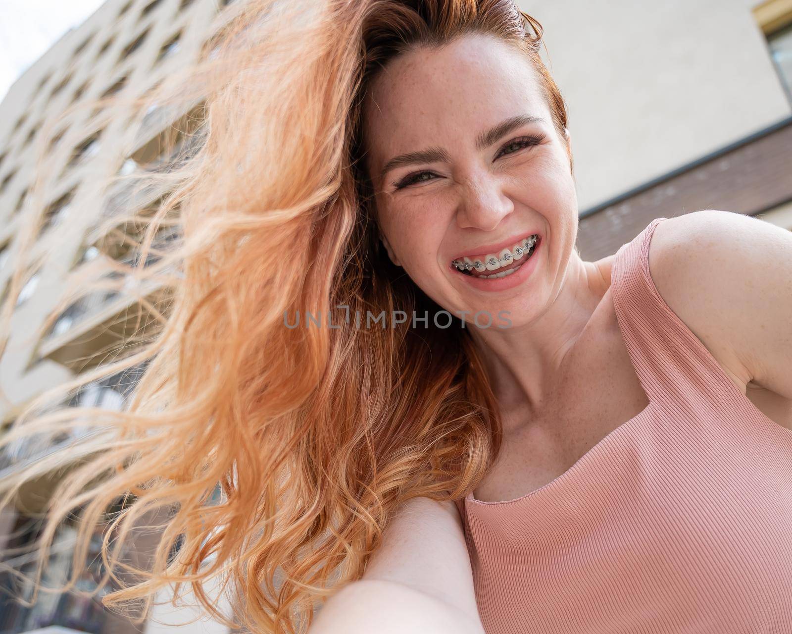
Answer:
[[[105,0],[0,0],[0,100],[70,27]]]

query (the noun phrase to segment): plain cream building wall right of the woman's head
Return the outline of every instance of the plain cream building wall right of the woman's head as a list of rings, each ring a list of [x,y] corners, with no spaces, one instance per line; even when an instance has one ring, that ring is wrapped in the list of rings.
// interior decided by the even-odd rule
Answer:
[[[569,106],[581,212],[792,115],[756,0],[520,6]]]

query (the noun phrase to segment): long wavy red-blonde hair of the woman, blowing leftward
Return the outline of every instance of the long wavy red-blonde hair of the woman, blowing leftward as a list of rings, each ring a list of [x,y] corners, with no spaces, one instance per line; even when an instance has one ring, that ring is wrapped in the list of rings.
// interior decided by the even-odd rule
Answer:
[[[402,53],[472,32],[525,55],[562,132],[542,27],[512,0],[250,0],[211,55],[169,86],[173,101],[203,101],[190,155],[146,176],[169,193],[143,219],[137,247],[144,258],[157,251],[167,223],[180,235],[156,265],[130,271],[167,290],[149,306],[157,319],[37,399],[0,439],[97,430],[64,471],[38,545],[43,562],[59,523],[80,511],[70,586],[98,526],[101,582],[118,586],[105,605],[148,607],[159,589],[188,584],[207,613],[236,626],[202,590],[222,579],[247,627],[298,632],[329,594],[360,579],[398,506],[463,498],[493,464],[497,403],[458,320],[284,327],[284,315],[336,307],[440,310],[379,248],[362,103]],[[144,372],[121,411],[57,407],[64,393],[133,367]],[[74,462],[72,448],[27,466],[3,503]],[[154,510],[166,510],[161,539],[150,565],[135,569],[120,548]]]

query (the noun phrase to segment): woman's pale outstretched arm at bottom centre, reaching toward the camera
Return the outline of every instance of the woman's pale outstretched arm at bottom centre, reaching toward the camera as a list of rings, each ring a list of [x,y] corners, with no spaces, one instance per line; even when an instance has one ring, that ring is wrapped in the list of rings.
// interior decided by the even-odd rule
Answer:
[[[414,498],[398,510],[363,579],[319,610],[309,634],[483,634],[454,502]]]

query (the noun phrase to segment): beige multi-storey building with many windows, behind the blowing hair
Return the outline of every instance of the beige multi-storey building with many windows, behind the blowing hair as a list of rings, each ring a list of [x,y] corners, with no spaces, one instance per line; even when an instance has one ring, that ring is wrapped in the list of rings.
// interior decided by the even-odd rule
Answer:
[[[45,317],[59,304],[67,276],[86,266],[103,266],[108,258],[131,254],[106,252],[102,220],[112,201],[97,183],[115,174],[130,174],[140,166],[157,162],[162,135],[183,128],[184,120],[172,108],[152,104],[133,115],[124,101],[145,96],[159,82],[166,82],[196,59],[211,32],[234,11],[234,2],[222,0],[109,0],[82,25],[67,32],[11,86],[0,104],[0,293],[5,296],[10,264],[17,258],[32,273],[22,288],[11,322],[11,340],[0,361],[2,402],[0,415],[7,425],[21,407],[42,391],[74,377],[82,360],[124,332],[124,315],[135,300],[126,293],[91,296],[61,315],[44,337],[38,331]],[[0,8],[2,12],[2,8]],[[2,16],[0,16],[2,17]],[[98,112],[79,108],[81,102],[118,97],[118,105]],[[77,106],[66,124],[53,128],[55,117]],[[186,110],[185,112],[188,112]],[[75,136],[89,123],[86,136]],[[37,145],[38,144],[38,145]],[[29,191],[36,173],[36,150],[44,148],[51,200],[32,249],[21,252],[19,227],[30,211]],[[141,207],[153,204],[161,193],[143,193]],[[108,231],[105,227],[104,231]],[[156,289],[125,290],[141,295]],[[109,324],[120,323],[121,330]],[[97,382],[72,399],[74,405],[117,409],[124,406],[135,372]],[[74,443],[78,454],[81,436]],[[36,457],[25,445],[7,448],[0,455],[0,487],[13,481],[14,473]],[[43,508],[53,482],[41,479],[25,487],[19,506],[0,511],[0,547],[18,546],[36,535],[36,523],[25,511]],[[74,529],[67,525],[55,542],[48,563],[49,579],[63,583],[69,570]],[[143,548],[144,544],[140,545]],[[32,573],[32,558],[13,562]],[[8,587],[10,579],[0,579]],[[21,594],[28,589],[18,586]],[[211,595],[211,589],[209,590]],[[23,609],[0,598],[0,632],[29,632],[40,628],[66,627],[79,632],[211,632],[228,628],[211,621],[197,621],[194,599],[181,609],[169,605],[154,609],[143,626],[134,626],[101,609],[96,601],[64,594],[42,598],[33,609]],[[167,593],[158,597],[165,602]],[[225,605],[218,597],[219,605]],[[227,605],[225,605],[227,607]],[[59,632],[63,630],[59,629]]]

